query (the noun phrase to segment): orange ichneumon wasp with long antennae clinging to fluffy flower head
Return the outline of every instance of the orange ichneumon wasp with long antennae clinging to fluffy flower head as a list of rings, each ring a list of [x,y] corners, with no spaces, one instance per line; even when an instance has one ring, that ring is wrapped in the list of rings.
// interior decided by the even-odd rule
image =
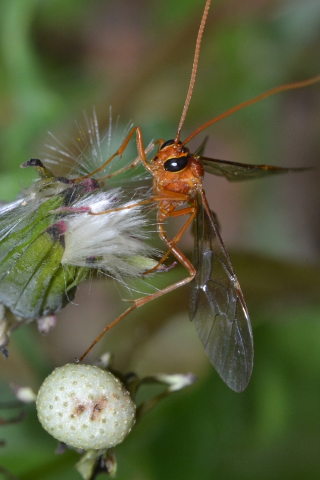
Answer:
[[[289,83],[275,87],[257,97],[243,102],[236,107],[215,117],[181,141],[180,133],[188,111],[198,65],[200,43],[208,15],[210,0],[206,0],[198,37],[196,41],[194,62],[190,85],[183,108],[178,130],[174,139],[158,139],[153,143],[157,153],[148,162],[144,148],[142,131],[134,127],[116,153],[101,167],[89,175],[77,178],[83,180],[100,172],[115,157],[122,156],[131,137],[136,134],[138,158],[127,167],[114,172],[135,168],[140,162],[153,177],[153,196],[141,202],[156,202],[157,229],[159,236],[168,247],[168,251],[158,264],[146,273],[151,273],[161,265],[170,254],[188,271],[188,276],[161,291],[144,296],[132,302],[132,305],[116,320],[104,328],[91,346],[80,357],[82,361],[102,335],[116,323],[138,307],[158,297],[172,292],[178,287],[191,283],[190,318],[195,322],[196,330],[204,349],[222,379],[236,392],[242,392],[248,385],[253,365],[253,338],[247,307],[233,270],[230,258],[219,233],[215,216],[207,203],[202,187],[204,172],[226,177],[231,181],[246,180],[277,173],[302,171],[304,168],[280,168],[270,165],[249,165],[222,161],[202,156],[204,144],[190,153],[187,143],[198,133],[232,113],[263,100],[281,91],[302,88],[320,81],[320,75],[301,82]],[[185,206],[187,205],[187,206]],[[117,210],[117,209],[115,209]],[[99,212],[98,214],[103,214]],[[167,218],[188,216],[187,221],[175,235],[169,239],[164,227]],[[195,222],[194,259],[191,263],[179,250],[179,241],[188,228]]]

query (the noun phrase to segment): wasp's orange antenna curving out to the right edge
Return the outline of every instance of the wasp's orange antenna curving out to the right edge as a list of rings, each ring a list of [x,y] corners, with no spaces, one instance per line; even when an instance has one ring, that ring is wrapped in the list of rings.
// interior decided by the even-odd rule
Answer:
[[[208,122],[203,123],[203,125],[201,125],[196,130],[194,130],[194,132],[192,132],[191,135],[189,135],[188,138],[186,138],[181,145],[182,146],[186,145],[186,143],[188,143],[193,137],[195,137],[198,133],[200,133],[206,127],[212,125],[213,123],[219,122],[219,120],[222,120],[223,118],[229,117],[229,115],[237,112],[238,110],[243,109],[244,107],[248,107],[249,105],[260,102],[260,100],[264,100],[268,97],[271,97],[272,95],[275,95],[276,93],[280,93],[281,91],[304,88],[317,82],[320,82],[320,75],[316,75],[315,77],[308,78],[307,80],[302,80],[300,82],[286,83],[285,85],[280,85],[272,88],[271,90],[265,91],[264,93],[257,95],[257,97],[254,97],[253,99],[250,99],[250,100],[246,100],[245,102],[242,102],[241,104],[236,105],[235,107],[231,108],[230,110],[227,110],[221,115],[218,115],[218,117],[212,118]]]

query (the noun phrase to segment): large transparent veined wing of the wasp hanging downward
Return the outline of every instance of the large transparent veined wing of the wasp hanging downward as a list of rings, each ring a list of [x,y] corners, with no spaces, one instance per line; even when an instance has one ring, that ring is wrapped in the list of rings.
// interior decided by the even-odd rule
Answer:
[[[190,318],[221,378],[236,392],[248,385],[253,339],[248,311],[203,191],[197,195]]]

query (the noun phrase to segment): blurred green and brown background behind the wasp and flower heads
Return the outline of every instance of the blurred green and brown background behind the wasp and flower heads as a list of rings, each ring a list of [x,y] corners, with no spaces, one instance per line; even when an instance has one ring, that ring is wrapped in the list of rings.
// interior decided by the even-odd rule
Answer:
[[[19,165],[45,158],[47,131],[69,145],[74,121],[93,107],[102,132],[112,105],[119,132],[132,119],[145,143],[172,138],[203,6],[204,0],[1,0],[0,197],[13,200],[28,185],[32,174]],[[182,136],[275,85],[319,74],[319,32],[318,0],[213,1]],[[238,112],[190,147],[209,134],[207,156],[319,166],[319,131],[320,84]],[[252,379],[235,394],[210,366],[188,320],[187,288],[124,320],[91,360],[111,350],[123,371],[192,371],[198,381],[157,406],[117,448],[120,480],[319,478],[319,180],[317,170],[243,184],[206,175],[252,320]],[[191,233],[181,248],[191,253]],[[182,275],[176,268],[153,283]],[[0,359],[1,399],[13,398],[9,381],[36,390],[55,366],[74,361],[130,295],[112,280],[93,279],[46,338],[34,324],[14,332],[9,359]],[[56,442],[34,406],[26,410],[22,423],[0,424],[0,465],[20,480],[80,478],[77,454],[55,455]]]

